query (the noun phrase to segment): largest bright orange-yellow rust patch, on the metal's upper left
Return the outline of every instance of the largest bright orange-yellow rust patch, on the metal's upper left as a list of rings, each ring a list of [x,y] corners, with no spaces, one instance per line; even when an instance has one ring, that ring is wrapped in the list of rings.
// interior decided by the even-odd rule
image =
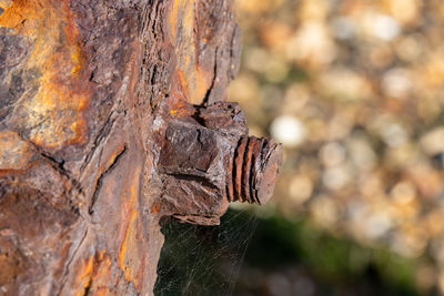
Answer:
[[[84,143],[82,111],[91,90],[69,0],[16,0],[0,16],[0,25],[34,41],[27,68],[41,72],[40,86],[34,98],[22,103],[28,116],[20,119],[30,130],[30,140],[56,150]]]

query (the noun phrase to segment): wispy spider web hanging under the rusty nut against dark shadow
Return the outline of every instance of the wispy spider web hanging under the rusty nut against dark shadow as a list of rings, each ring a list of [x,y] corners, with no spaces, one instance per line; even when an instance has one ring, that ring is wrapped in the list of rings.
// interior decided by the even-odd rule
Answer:
[[[154,295],[232,295],[249,243],[258,226],[251,212],[229,210],[219,226],[170,220],[158,265]]]

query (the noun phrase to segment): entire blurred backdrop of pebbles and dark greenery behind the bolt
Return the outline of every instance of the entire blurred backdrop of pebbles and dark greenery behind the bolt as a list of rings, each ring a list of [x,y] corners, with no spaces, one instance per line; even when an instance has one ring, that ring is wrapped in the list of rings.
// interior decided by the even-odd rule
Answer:
[[[444,2],[235,3],[230,100],[251,134],[283,143],[284,165],[269,205],[233,204],[231,229],[210,235],[225,237],[209,252],[225,279],[193,274],[184,294],[444,295]]]

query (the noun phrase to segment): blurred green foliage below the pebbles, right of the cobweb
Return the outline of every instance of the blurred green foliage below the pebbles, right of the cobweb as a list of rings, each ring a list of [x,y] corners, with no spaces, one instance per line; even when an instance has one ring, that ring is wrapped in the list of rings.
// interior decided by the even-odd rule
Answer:
[[[287,221],[282,215],[260,218],[245,265],[263,271],[281,266],[303,267],[324,290],[320,295],[335,295],[335,286],[363,283],[370,283],[372,287],[362,290],[365,294],[420,295],[414,285],[414,259],[335,237],[316,229],[303,217],[296,222]]]

